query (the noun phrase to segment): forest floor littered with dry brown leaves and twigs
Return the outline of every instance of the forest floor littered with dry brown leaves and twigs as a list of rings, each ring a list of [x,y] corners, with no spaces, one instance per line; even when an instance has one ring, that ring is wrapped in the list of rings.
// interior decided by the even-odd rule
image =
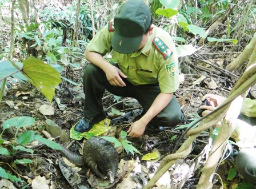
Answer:
[[[124,150],[121,151],[119,153],[119,160],[133,160],[131,167],[138,168],[138,166],[140,166],[140,169],[143,171],[138,171],[138,174],[136,171],[137,168],[129,170],[125,176],[130,180],[126,180],[125,176],[123,176],[123,178],[119,179],[111,188],[142,188],[143,184],[146,184],[149,181],[149,175],[154,174],[157,170],[161,160],[166,155],[171,154],[178,139],[186,130],[187,124],[199,118],[197,111],[202,104],[202,96],[207,93],[222,96],[227,96],[229,94],[229,91],[234,86],[237,78],[226,73],[225,69],[223,69],[227,63],[226,57],[223,56],[227,53],[211,53],[211,55],[207,55],[207,58],[203,58],[202,55],[206,55],[207,53],[210,54],[209,49],[204,49],[199,51],[197,56],[190,57],[190,59],[183,58],[181,61],[181,85],[179,90],[175,93],[175,96],[185,115],[185,118],[178,126],[184,126],[184,128],[177,129],[166,127],[162,132],[158,133],[145,132],[141,138],[131,138],[128,136],[127,140],[129,140],[143,155],[157,150],[160,156],[156,160],[141,160],[142,155],[138,153],[131,155],[130,153],[127,154]],[[193,63],[191,60],[193,60]],[[215,67],[211,65],[213,62]],[[82,73],[83,67],[80,69],[69,67],[65,71],[65,77],[72,78],[73,81],[81,83]],[[59,99],[60,103],[56,99]],[[3,98],[3,102],[4,103],[0,106],[1,122],[15,116],[32,116],[35,118],[36,123],[34,126],[26,129],[35,130],[39,134],[42,134],[42,131],[46,130],[46,119],[51,119],[57,123],[62,130],[69,134],[70,128],[82,118],[82,85],[74,86],[66,81],[61,83],[59,89],[56,90],[55,99],[52,103],[54,107],[53,115],[43,115],[42,112],[39,111],[40,105],[49,103],[43,98],[42,94],[35,89],[35,87],[27,85],[27,83],[13,87],[7,91],[7,94]],[[110,125],[114,123],[113,125],[118,128],[117,131],[127,131],[130,123],[136,119],[136,116],[138,118],[142,110],[136,100],[121,98],[117,101],[113,95],[107,92],[103,98],[103,105],[108,113],[108,118],[111,120]],[[113,114],[111,107],[126,114],[122,116]],[[130,115],[131,117],[129,118]],[[6,134],[6,137],[10,136],[11,134]],[[71,143],[71,141],[73,142]],[[78,152],[78,149],[81,148],[82,141],[83,139],[80,141],[69,139],[67,144],[71,143],[72,150]],[[195,163],[195,159],[198,158],[208,143],[209,131],[205,131],[194,141],[193,151],[191,151],[190,155],[177,162],[176,165],[178,165],[178,168],[170,168],[168,173],[170,175],[167,176],[167,178],[169,177],[169,179],[167,179],[167,182],[169,182],[166,185],[167,187],[155,186],[155,188],[195,188],[205,159],[202,158],[196,163],[196,171],[192,171],[190,174],[188,173],[192,164]],[[179,144],[179,146],[181,144]],[[57,160],[62,157],[59,152],[46,146],[35,148],[34,151],[34,155],[21,154],[21,156],[26,156],[27,159],[33,159],[34,164],[17,166],[15,169],[20,175],[27,176],[31,180],[34,180],[37,176],[45,177],[46,180],[49,180],[50,188],[78,188],[78,186],[71,187],[62,175],[57,163]],[[4,161],[9,161],[10,163],[10,160],[8,159],[5,159]],[[223,183],[225,183],[225,188],[233,188],[231,187],[232,183],[239,183],[242,180],[239,176],[235,176],[233,180],[227,181],[227,175],[232,167],[234,167],[234,158],[229,157],[225,162],[221,163],[218,168],[218,174],[221,176]],[[6,166],[6,168],[8,167]],[[79,188],[108,188],[108,186],[99,186],[99,184],[97,185],[92,181],[87,182],[87,179],[92,179],[92,174],[87,168],[82,168],[82,171],[78,172],[78,174],[82,179]],[[26,179],[25,181],[28,182]],[[166,179],[163,179],[163,182],[166,182]],[[219,178],[215,177],[213,183],[214,188],[221,188],[221,181]],[[15,183],[15,187],[21,188],[21,186],[20,183]],[[29,188],[30,187],[31,186],[29,186]]]

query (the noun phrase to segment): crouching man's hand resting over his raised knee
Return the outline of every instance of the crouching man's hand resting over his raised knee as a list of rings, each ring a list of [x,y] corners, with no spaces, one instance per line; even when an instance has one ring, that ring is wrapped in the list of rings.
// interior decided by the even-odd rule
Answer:
[[[127,78],[127,76],[123,74],[118,67],[109,64],[109,66],[107,66],[103,71],[105,72],[107,80],[111,85],[119,87],[126,86],[121,77]]]

